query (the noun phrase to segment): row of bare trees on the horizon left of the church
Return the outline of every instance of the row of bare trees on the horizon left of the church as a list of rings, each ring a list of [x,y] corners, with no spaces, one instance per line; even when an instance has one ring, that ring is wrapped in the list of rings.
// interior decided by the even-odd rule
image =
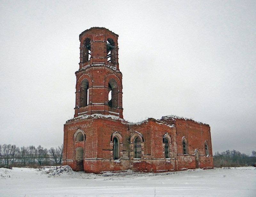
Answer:
[[[63,145],[56,148],[35,146],[18,147],[11,144],[0,144],[0,167],[1,166],[41,166],[60,165],[62,162]]]

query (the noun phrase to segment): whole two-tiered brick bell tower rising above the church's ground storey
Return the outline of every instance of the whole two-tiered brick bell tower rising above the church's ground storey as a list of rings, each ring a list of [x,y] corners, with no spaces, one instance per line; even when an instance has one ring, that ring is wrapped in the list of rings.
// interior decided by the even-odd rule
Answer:
[[[94,27],[79,35],[80,62],[76,71],[75,115],[104,114],[123,118],[122,73],[118,35]]]

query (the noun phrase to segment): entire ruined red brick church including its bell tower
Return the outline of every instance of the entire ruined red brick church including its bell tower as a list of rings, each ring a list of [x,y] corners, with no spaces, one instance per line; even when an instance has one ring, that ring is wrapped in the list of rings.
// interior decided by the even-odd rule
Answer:
[[[94,27],[79,40],[75,115],[64,124],[63,164],[93,173],[212,168],[208,124],[172,115],[123,119],[117,34]]]

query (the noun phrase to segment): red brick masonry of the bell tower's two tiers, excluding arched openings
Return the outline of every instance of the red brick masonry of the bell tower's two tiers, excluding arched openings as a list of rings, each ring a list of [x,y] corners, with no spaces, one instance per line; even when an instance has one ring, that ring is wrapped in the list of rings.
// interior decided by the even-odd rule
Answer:
[[[84,40],[91,39],[91,59],[82,62]],[[115,62],[108,62],[107,39],[111,38],[115,43]],[[81,114],[111,114],[123,118],[122,101],[122,73],[118,64],[118,35],[106,28],[91,28],[79,35],[80,40],[80,63],[79,70],[76,71],[76,106],[75,115]],[[111,53],[112,54],[112,53]],[[114,64],[114,65],[113,65]],[[89,103],[88,106],[79,108],[79,87],[83,79],[89,82]],[[108,82],[115,80],[117,83],[117,98],[114,109],[108,106]],[[114,103],[114,102],[113,102]],[[114,112],[114,113],[113,113]]]

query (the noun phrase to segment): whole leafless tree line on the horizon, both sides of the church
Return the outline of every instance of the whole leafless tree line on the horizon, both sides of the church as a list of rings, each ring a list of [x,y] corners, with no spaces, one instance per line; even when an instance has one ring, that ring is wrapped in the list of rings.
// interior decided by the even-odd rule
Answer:
[[[60,165],[62,162],[63,145],[52,147],[49,150],[41,145],[18,147],[11,144],[0,144],[0,167],[12,166],[36,167],[41,165]],[[256,163],[256,151],[251,155],[236,150],[216,152],[213,155],[214,167],[239,167]]]

